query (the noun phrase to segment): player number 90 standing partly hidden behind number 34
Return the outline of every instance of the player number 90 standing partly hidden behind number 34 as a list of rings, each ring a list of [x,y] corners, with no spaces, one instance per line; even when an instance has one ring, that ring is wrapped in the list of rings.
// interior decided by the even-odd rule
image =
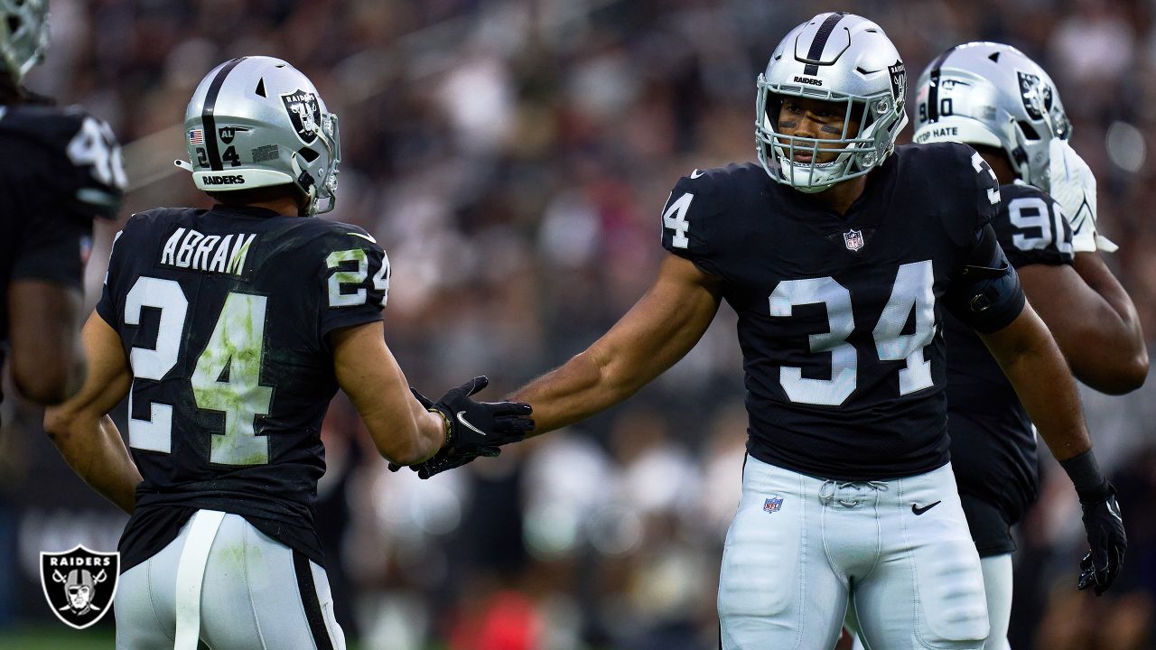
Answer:
[[[1116,246],[1096,231],[1096,178],[1067,142],[1051,76],[1015,47],[968,43],[924,71],[916,97],[916,142],[966,142],[995,171],[1002,200],[992,227],[1072,374],[1105,393],[1140,387],[1148,372],[1140,320],[1097,252]],[[987,593],[984,648],[1006,650],[1010,527],[1036,500],[1036,436],[979,337],[951,316],[944,328],[951,466]]]

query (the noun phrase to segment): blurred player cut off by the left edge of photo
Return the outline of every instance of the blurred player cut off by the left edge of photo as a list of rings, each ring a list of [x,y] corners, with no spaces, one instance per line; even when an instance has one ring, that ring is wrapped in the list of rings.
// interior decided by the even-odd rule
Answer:
[[[0,0],[0,340],[10,344],[14,384],[38,404],[59,402],[84,381],[80,325],[92,217],[113,219],[125,187],[109,125],[21,86],[44,60],[47,13],[45,0]]]

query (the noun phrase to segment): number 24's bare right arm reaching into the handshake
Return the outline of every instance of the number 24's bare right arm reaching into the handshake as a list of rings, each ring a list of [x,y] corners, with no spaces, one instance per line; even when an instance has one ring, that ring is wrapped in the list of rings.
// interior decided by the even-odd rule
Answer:
[[[437,453],[446,441],[445,422],[409,392],[385,345],[381,323],[334,330],[329,339],[338,384],[357,408],[378,452],[398,465],[414,465]]]

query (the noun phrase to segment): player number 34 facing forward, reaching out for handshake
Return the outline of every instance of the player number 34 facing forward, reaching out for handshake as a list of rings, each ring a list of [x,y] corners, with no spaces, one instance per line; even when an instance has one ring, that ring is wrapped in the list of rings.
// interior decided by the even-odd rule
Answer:
[[[630,397],[739,315],[748,457],[718,594],[725,649],[829,650],[855,597],[888,650],[978,649],[979,556],[948,457],[946,311],[976,330],[1084,503],[1103,589],[1125,546],[1075,384],[990,221],[965,145],[895,148],[906,73],[877,24],[825,13],[757,82],[761,164],[695,170],[662,210],[672,253],[601,339],[514,393],[536,431]],[[439,453],[427,473],[468,459]]]

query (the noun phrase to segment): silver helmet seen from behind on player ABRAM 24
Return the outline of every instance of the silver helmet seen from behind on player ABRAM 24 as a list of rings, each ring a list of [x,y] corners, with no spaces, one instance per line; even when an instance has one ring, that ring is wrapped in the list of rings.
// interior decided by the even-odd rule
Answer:
[[[289,185],[302,214],[336,204],[338,116],[296,68],[272,57],[240,57],[213,68],[185,110],[185,140],[197,187],[206,192]],[[327,199],[324,207],[320,200]]]

